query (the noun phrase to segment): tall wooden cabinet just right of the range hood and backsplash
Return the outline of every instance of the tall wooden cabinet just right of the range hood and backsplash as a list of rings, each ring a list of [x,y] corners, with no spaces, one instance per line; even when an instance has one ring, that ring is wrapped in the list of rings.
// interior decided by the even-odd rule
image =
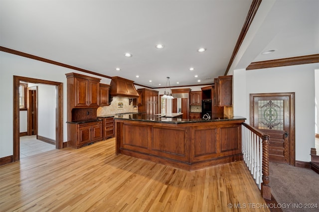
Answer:
[[[139,112],[146,112],[147,115],[159,113],[159,91],[147,88],[138,89],[142,96]]]

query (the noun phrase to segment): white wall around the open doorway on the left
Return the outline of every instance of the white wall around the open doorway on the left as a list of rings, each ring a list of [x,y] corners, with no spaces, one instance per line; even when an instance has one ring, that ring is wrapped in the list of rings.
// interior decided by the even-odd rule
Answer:
[[[0,52],[0,158],[13,155],[13,75],[63,83],[63,141],[67,141],[65,73],[69,72],[98,77],[106,84],[111,81],[93,74]]]

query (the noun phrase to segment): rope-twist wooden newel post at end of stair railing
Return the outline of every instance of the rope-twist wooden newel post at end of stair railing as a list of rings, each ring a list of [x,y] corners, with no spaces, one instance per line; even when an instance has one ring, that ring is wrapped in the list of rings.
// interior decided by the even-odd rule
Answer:
[[[263,183],[261,186],[261,194],[264,199],[271,200],[271,189],[269,186],[269,137],[264,136],[263,145]]]

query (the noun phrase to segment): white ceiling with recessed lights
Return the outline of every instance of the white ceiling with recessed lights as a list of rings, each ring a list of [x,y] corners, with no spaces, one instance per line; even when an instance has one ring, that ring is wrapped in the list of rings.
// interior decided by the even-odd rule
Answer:
[[[171,86],[209,84],[224,75],[251,3],[0,0],[0,46],[147,87],[164,87],[166,76]],[[318,54],[318,11],[319,0],[263,0],[228,73]]]

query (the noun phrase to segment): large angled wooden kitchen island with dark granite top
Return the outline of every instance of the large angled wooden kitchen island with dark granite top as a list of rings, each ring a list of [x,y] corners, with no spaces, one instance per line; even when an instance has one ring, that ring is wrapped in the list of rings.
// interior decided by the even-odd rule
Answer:
[[[242,160],[243,117],[180,119],[159,114],[115,116],[116,154],[184,170]]]

